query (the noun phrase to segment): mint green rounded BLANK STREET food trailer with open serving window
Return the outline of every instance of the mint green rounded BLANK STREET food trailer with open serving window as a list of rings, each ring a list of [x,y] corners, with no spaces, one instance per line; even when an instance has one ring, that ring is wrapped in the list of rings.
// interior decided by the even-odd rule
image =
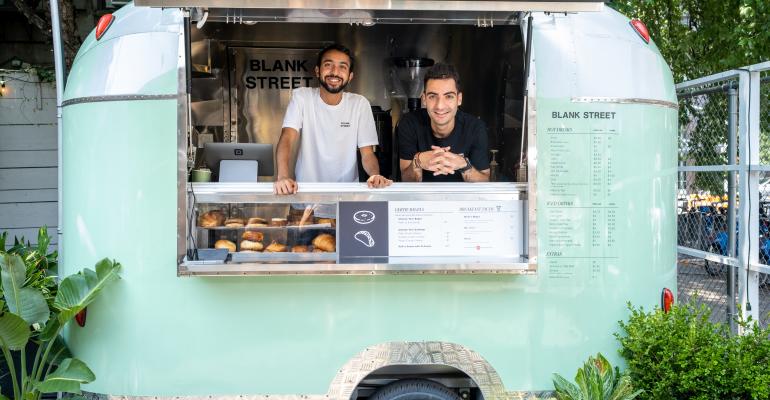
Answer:
[[[496,181],[191,182],[205,143],[275,144],[331,42],[379,107],[385,169],[414,74],[455,64]],[[85,40],[64,93],[60,272],[124,266],[67,332],[86,390],[547,396],[588,355],[621,362],[627,302],[675,291],[676,127],[646,28],[601,2],[137,0]]]

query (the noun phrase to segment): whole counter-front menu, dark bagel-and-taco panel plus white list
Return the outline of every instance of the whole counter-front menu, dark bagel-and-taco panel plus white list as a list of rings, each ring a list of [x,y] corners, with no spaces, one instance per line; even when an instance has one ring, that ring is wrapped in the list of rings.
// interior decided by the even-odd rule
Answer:
[[[340,202],[340,259],[520,257],[523,213],[522,200]]]

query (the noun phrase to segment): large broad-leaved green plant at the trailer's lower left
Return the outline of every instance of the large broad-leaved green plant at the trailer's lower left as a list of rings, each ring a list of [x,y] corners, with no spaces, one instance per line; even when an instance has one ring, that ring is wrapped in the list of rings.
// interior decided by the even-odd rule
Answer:
[[[81,384],[93,382],[93,372],[71,357],[60,334],[106,286],[119,279],[120,268],[119,263],[105,258],[96,263],[95,270],[86,268],[64,278],[49,306],[40,287],[30,284],[22,256],[0,249],[0,349],[11,375],[13,400],[39,400],[43,393],[80,394]],[[38,345],[31,366],[26,354],[30,341]],[[20,355],[18,366],[14,352]],[[8,398],[0,395],[0,400]]]

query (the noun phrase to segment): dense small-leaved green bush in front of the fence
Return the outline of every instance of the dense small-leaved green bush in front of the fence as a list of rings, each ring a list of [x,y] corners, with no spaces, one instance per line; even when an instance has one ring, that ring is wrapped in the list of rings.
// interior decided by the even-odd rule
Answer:
[[[738,321],[746,334],[730,335],[709,321],[709,309],[692,303],[664,313],[629,304],[628,322],[616,334],[640,399],[770,398],[770,331]]]

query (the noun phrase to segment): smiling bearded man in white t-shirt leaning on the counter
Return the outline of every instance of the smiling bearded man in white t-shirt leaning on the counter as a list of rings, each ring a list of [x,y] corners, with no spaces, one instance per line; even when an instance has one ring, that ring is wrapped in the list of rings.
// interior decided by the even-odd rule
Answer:
[[[292,91],[276,149],[275,193],[296,193],[297,182],[358,182],[356,149],[369,175],[369,187],[393,182],[380,175],[374,155],[377,130],[369,101],[343,91],[353,79],[353,66],[350,50],[339,44],[328,46],[318,54],[315,67],[320,87]],[[295,181],[289,159],[298,140]]]

